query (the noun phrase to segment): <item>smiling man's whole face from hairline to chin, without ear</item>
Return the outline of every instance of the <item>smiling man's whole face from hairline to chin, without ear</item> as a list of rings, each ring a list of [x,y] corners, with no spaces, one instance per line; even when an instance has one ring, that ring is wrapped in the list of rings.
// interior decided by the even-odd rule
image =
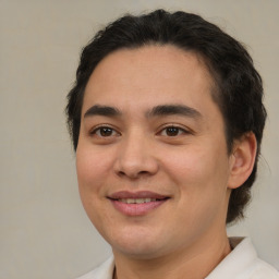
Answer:
[[[225,233],[232,160],[201,60],[119,50],[85,89],[76,150],[85,210],[114,253],[151,258]]]

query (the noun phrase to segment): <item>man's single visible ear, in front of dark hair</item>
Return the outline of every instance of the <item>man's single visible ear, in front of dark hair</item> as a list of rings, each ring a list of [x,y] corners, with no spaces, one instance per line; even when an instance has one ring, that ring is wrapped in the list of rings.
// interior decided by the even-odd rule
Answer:
[[[257,153],[257,141],[254,133],[247,133],[233,145],[230,155],[230,178],[228,189],[241,186],[253,171]]]

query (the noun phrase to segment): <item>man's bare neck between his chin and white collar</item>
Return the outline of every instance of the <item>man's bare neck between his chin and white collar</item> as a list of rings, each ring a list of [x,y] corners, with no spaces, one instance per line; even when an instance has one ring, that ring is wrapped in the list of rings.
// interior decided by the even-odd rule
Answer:
[[[206,238],[189,247],[156,258],[138,259],[113,251],[116,272],[113,279],[202,279],[230,253],[225,233]]]

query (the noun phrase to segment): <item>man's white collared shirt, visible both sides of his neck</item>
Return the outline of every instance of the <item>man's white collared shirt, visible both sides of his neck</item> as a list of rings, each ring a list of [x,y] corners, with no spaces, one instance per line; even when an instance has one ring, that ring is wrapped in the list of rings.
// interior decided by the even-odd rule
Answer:
[[[205,279],[279,279],[279,272],[259,259],[250,239],[230,238],[232,252]],[[114,259],[110,257],[77,279],[112,279]]]

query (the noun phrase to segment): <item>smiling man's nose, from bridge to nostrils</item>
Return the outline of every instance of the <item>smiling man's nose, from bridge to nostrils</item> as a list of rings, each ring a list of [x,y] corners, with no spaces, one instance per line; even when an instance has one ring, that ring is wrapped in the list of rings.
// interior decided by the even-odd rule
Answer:
[[[116,173],[132,180],[154,175],[159,165],[150,141],[141,133],[130,134],[123,140],[114,162]]]

